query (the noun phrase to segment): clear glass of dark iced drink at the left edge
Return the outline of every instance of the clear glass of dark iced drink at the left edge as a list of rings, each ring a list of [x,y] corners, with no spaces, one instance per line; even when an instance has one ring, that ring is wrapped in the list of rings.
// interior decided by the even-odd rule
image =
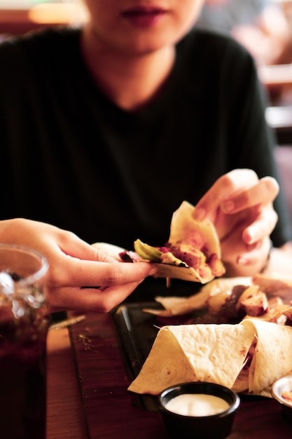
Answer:
[[[46,258],[0,244],[1,438],[46,439]]]

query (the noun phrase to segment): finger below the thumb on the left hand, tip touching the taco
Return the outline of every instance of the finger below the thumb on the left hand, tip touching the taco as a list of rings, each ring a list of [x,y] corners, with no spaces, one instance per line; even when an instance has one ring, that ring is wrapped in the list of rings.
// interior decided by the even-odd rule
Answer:
[[[59,264],[50,267],[51,286],[110,286],[141,281],[156,272],[149,262],[95,262],[62,255]]]

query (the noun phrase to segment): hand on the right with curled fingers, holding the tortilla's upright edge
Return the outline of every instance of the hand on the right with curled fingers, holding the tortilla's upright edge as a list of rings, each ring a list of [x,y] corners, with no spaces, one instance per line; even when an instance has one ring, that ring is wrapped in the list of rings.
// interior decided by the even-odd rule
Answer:
[[[265,266],[278,219],[272,206],[278,192],[274,178],[259,180],[253,170],[235,169],[197,203],[194,217],[214,222],[228,276],[253,276]]]

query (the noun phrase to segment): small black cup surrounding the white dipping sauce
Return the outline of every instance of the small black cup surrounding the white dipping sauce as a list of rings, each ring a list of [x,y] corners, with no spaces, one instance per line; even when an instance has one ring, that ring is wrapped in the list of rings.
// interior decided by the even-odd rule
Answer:
[[[183,394],[202,393],[218,396],[229,408],[224,412],[208,416],[176,414],[165,407],[169,400]],[[223,439],[230,435],[235,412],[239,407],[239,396],[225,386],[207,382],[189,382],[169,387],[158,396],[158,407],[169,438],[172,439]]]

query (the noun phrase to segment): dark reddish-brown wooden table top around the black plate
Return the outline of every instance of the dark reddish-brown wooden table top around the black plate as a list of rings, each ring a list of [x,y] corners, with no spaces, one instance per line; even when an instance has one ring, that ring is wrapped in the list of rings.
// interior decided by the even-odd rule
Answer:
[[[109,314],[49,332],[48,439],[167,439],[160,414],[127,391],[122,358]],[[229,439],[261,436],[291,439],[292,425],[274,400],[242,398]]]

